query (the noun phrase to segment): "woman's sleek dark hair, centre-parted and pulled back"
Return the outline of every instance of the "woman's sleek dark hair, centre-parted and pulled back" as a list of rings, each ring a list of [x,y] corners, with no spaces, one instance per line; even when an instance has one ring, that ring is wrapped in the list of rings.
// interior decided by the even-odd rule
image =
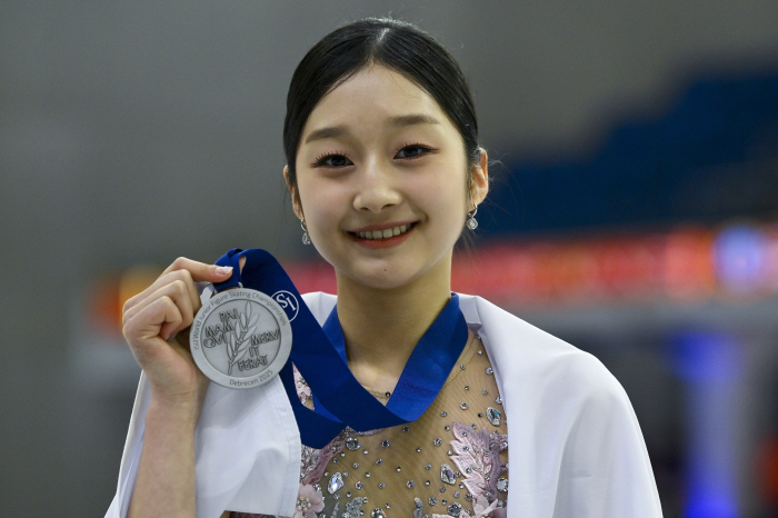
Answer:
[[[316,104],[338,84],[372,63],[401,73],[432,97],[462,136],[468,163],[479,162],[478,122],[472,96],[453,57],[410,23],[367,18],[327,34],[295,70],[283,122],[283,150],[290,186],[297,186],[297,150],[302,129]],[[468,175],[468,188],[470,181],[471,175]]]

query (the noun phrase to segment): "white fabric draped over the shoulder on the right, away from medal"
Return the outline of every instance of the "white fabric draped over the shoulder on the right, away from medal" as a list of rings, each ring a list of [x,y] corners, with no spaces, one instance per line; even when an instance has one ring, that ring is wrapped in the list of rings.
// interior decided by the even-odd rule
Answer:
[[[506,410],[507,517],[660,518],[638,420],[608,369],[483,299],[460,296],[460,307]]]

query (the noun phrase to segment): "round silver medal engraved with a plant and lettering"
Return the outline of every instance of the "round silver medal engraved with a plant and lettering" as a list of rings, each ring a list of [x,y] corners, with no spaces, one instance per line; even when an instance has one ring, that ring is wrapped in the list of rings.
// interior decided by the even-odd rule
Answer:
[[[189,333],[192,357],[211,381],[258,387],[289,359],[292,336],[283,309],[261,291],[222,291],[198,311]]]

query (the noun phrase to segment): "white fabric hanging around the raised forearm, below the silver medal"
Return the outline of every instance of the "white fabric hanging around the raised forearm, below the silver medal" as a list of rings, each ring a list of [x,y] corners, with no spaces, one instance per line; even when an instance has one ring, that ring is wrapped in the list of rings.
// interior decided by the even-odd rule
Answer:
[[[141,375],[107,518],[127,516],[143,447],[151,390]],[[225,510],[292,516],[300,470],[300,435],[280,378],[251,389],[211,383],[196,432],[197,516]]]

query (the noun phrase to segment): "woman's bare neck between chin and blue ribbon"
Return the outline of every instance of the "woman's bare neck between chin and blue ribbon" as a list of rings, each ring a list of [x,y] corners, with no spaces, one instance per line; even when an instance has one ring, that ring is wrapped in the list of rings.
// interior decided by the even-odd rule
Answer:
[[[349,368],[362,386],[393,391],[413,348],[450,300],[450,259],[432,270],[392,289],[367,287],[336,273]]]

